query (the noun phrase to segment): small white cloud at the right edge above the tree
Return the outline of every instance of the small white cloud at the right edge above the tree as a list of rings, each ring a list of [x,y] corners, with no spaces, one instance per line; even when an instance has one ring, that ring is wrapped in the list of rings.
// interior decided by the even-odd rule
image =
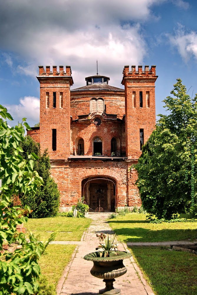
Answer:
[[[179,25],[175,35],[168,35],[170,43],[175,46],[181,57],[188,61],[191,57],[197,59],[197,32],[186,32],[184,27]]]

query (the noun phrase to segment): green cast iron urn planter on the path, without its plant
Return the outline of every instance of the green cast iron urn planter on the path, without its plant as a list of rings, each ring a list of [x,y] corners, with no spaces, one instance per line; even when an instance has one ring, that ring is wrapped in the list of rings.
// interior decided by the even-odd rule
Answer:
[[[85,260],[91,260],[94,263],[90,270],[92,276],[102,278],[105,282],[105,288],[99,290],[99,294],[120,295],[120,289],[115,289],[113,282],[115,278],[127,272],[123,259],[131,257],[131,254],[125,251],[112,251],[109,257],[100,257],[102,254],[102,251],[97,251],[84,256]]]

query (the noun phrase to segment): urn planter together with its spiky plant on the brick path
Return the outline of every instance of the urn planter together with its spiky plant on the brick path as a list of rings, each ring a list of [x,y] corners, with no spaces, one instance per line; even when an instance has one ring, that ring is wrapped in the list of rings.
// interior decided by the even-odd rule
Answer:
[[[96,252],[92,252],[84,256],[85,260],[93,261],[94,265],[90,270],[92,276],[102,278],[105,282],[105,288],[99,290],[99,294],[120,295],[120,289],[115,289],[113,282],[115,278],[122,276],[127,272],[127,268],[123,264],[123,259],[131,257],[126,251],[118,251],[115,235],[107,236],[100,239],[100,245],[96,248]]]

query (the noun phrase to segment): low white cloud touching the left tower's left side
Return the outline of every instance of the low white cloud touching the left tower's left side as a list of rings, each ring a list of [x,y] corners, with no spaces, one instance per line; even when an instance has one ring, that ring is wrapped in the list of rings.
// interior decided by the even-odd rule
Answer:
[[[39,122],[40,100],[37,97],[25,96],[19,104],[7,104],[5,107],[14,119],[9,123],[12,126],[21,122],[22,118],[27,118],[27,123],[31,126]]]

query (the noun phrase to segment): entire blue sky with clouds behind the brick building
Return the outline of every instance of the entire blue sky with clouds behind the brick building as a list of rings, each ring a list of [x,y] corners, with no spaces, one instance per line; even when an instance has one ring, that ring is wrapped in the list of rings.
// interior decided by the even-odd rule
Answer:
[[[38,66],[70,65],[74,85],[98,73],[121,85],[124,65],[156,65],[156,114],[181,78],[197,92],[197,1],[0,0],[0,104],[39,122]]]

